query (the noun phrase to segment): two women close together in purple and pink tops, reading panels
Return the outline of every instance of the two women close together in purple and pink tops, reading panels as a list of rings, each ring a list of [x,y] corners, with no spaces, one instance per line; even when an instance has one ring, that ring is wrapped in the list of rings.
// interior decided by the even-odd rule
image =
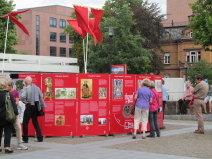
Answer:
[[[136,139],[137,130],[140,122],[142,123],[142,139],[146,137],[160,137],[160,127],[158,123],[159,95],[155,89],[154,82],[144,79],[141,87],[138,88],[135,95],[135,116],[134,133],[132,138]],[[147,123],[150,121],[150,134],[146,135]]]

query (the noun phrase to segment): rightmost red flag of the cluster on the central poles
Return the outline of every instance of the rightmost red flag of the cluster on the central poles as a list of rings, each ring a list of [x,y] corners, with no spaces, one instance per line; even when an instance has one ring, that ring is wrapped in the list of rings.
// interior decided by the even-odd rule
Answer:
[[[98,40],[99,43],[101,43],[102,40],[103,40],[102,32],[101,32],[101,29],[100,29],[100,22],[101,22],[101,19],[102,19],[103,11],[104,10],[91,8],[91,12],[93,13],[94,18],[95,18],[94,24],[93,24],[93,32],[94,32],[96,39]]]

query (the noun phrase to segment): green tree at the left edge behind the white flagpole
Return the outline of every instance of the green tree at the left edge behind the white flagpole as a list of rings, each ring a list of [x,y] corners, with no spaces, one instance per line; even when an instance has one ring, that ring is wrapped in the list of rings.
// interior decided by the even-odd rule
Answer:
[[[7,18],[2,17],[4,14],[12,12],[14,9],[14,4],[12,0],[0,0],[0,52],[4,51],[4,42],[5,42],[5,32],[7,26]],[[16,37],[16,29],[15,24],[10,22],[9,23],[9,30],[8,30],[8,39],[7,39],[7,53],[14,53],[15,50],[13,49],[13,45],[17,44],[18,40]]]

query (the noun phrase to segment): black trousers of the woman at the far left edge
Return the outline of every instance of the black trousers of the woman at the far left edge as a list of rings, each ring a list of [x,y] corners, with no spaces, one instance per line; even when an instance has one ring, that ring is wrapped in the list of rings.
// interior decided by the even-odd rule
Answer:
[[[3,131],[4,131],[4,147],[10,147],[12,124],[6,123],[5,125],[0,126],[0,146],[1,146]]]

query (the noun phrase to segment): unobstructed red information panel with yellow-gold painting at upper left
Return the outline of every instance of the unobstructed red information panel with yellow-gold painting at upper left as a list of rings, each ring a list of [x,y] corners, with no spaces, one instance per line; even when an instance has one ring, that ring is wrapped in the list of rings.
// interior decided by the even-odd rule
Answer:
[[[78,136],[107,135],[109,133],[109,75],[79,74],[78,87]]]

